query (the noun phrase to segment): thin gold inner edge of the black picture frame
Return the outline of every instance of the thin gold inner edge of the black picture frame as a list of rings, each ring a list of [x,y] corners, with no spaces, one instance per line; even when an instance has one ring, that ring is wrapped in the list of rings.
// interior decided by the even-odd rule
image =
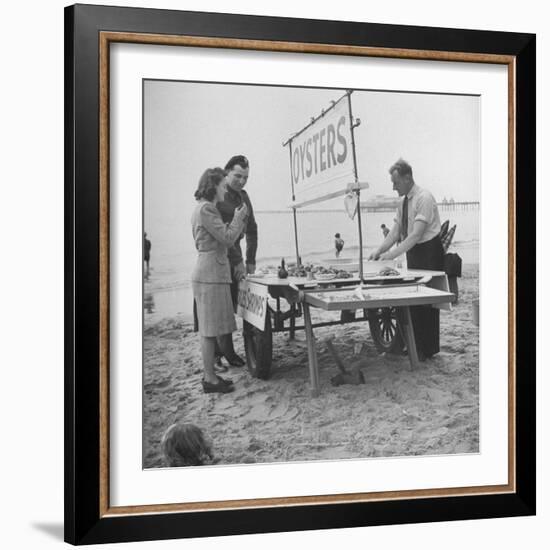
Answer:
[[[162,46],[187,46],[226,48],[271,52],[317,53],[330,55],[354,55],[363,57],[388,57],[393,59],[419,59],[429,61],[455,61],[465,63],[493,63],[508,66],[508,483],[478,487],[437,488],[407,491],[382,491],[371,493],[348,493],[300,497],[278,497],[214,502],[191,502],[173,504],[147,504],[139,506],[111,507],[109,503],[109,82],[110,44],[135,43]],[[486,53],[430,51],[402,48],[378,48],[370,46],[347,46],[247,40],[186,35],[161,35],[148,33],[124,33],[102,31],[99,33],[99,280],[100,280],[100,468],[99,468],[99,514],[100,517],[124,515],[198,512],[208,510],[247,509],[280,506],[314,506],[320,504],[343,504],[351,502],[375,502],[418,498],[442,498],[449,496],[472,496],[514,493],[516,490],[516,338],[515,338],[515,288],[516,288],[516,242],[515,242],[515,56]],[[512,291],[510,291],[510,289]]]

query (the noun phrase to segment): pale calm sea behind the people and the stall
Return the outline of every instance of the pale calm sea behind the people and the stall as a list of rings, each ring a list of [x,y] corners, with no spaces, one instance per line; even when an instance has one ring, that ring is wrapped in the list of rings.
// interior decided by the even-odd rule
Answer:
[[[341,257],[359,257],[358,219],[344,210],[259,211],[257,266],[278,266],[284,259],[296,261],[296,240],[302,262],[334,257],[334,235],[344,240]],[[395,212],[361,212],[363,251],[368,255],[383,240],[381,224],[392,227]],[[449,252],[457,252],[463,263],[479,263],[479,209],[440,206],[443,223],[456,225]],[[156,220],[154,231],[146,228],[152,241],[150,276],[144,284],[145,321],[162,317],[192,317],[190,275],[196,250],[189,220]],[[297,235],[297,239],[296,239]],[[242,241],[243,252],[246,249]]]

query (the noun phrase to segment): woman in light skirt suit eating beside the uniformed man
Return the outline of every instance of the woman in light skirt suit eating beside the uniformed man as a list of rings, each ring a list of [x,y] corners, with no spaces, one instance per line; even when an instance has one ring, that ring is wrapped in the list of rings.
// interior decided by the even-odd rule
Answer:
[[[193,238],[198,251],[191,274],[194,313],[201,335],[204,393],[228,393],[233,383],[214,370],[216,341],[224,350],[226,335],[237,330],[231,299],[231,269],[227,250],[241,235],[248,215],[246,204],[235,209],[231,223],[222,220],[216,204],[224,200],[225,171],[210,168],[204,172],[195,191],[198,204],[191,217]]]

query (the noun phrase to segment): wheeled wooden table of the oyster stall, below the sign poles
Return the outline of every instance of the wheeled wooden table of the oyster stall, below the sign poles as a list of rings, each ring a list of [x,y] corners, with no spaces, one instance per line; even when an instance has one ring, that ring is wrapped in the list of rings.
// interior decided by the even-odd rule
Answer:
[[[244,338],[247,365],[250,372],[258,378],[269,378],[272,356],[272,333],[289,332],[294,337],[297,330],[305,330],[308,348],[309,373],[311,391],[319,394],[319,372],[315,350],[313,329],[329,325],[349,322],[368,321],[371,334],[379,349],[386,349],[382,344],[388,344],[400,339],[401,335],[407,349],[411,367],[418,362],[414,341],[413,326],[410,321],[410,306],[432,305],[449,309],[454,295],[449,292],[447,277],[442,271],[402,270],[399,275],[366,274],[363,279],[362,296],[358,293],[359,277],[357,275],[345,279],[310,280],[305,277],[278,278],[276,275],[263,277],[249,276],[241,283],[240,291],[260,291],[275,300],[274,308],[267,307],[265,320],[253,326],[247,318],[247,312],[239,310],[244,319]],[[289,309],[281,309],[281,299],[289,304]],[[267,305],[267,301],[266,301]],[[341,316],[336,321],[313,323],[311,307],[327,311],[340,311]],[[356,311],[362,311],[362,317],[356,317]],[[389,313],[392,313],[390,318]],[[296,319],[304,317],[303,325],[298,325]],[[374,330],[379,322],[379,315],[385,315],[390,325],[384,329],[384,335]],[[288,321],[288,325],[286,322]],[[391,329],[391,330],[390,330]],[[390,342],[380,342],[387,331],[390,331]]]

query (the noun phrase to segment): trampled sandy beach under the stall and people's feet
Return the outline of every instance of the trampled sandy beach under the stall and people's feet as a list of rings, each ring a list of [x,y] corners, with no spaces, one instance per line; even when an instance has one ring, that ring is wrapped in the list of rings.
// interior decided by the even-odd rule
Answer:
[[[458,283],[458,304],[441,312],[441,351],[414,371],[406,356],[379,354],[366,323],[315,329],[317,398],[310,395],[303,331],[295,340],[274,335],[269,380],[230,367],[226,376],[235,391],[206,395],[192,323],[181,315],[146,318],[144,467],[164,466],[160,440],[176,421],[201,427],[219,464],[478,452],[479,332],[472,313],[477,264],[465,264]],[[335,315],[314,311],[314,322]],[[339,371],[323,342],[329,335],[345,362],[361,362],[364,385],[331,384]],[[234,341],[244,357],[240,332]]]

